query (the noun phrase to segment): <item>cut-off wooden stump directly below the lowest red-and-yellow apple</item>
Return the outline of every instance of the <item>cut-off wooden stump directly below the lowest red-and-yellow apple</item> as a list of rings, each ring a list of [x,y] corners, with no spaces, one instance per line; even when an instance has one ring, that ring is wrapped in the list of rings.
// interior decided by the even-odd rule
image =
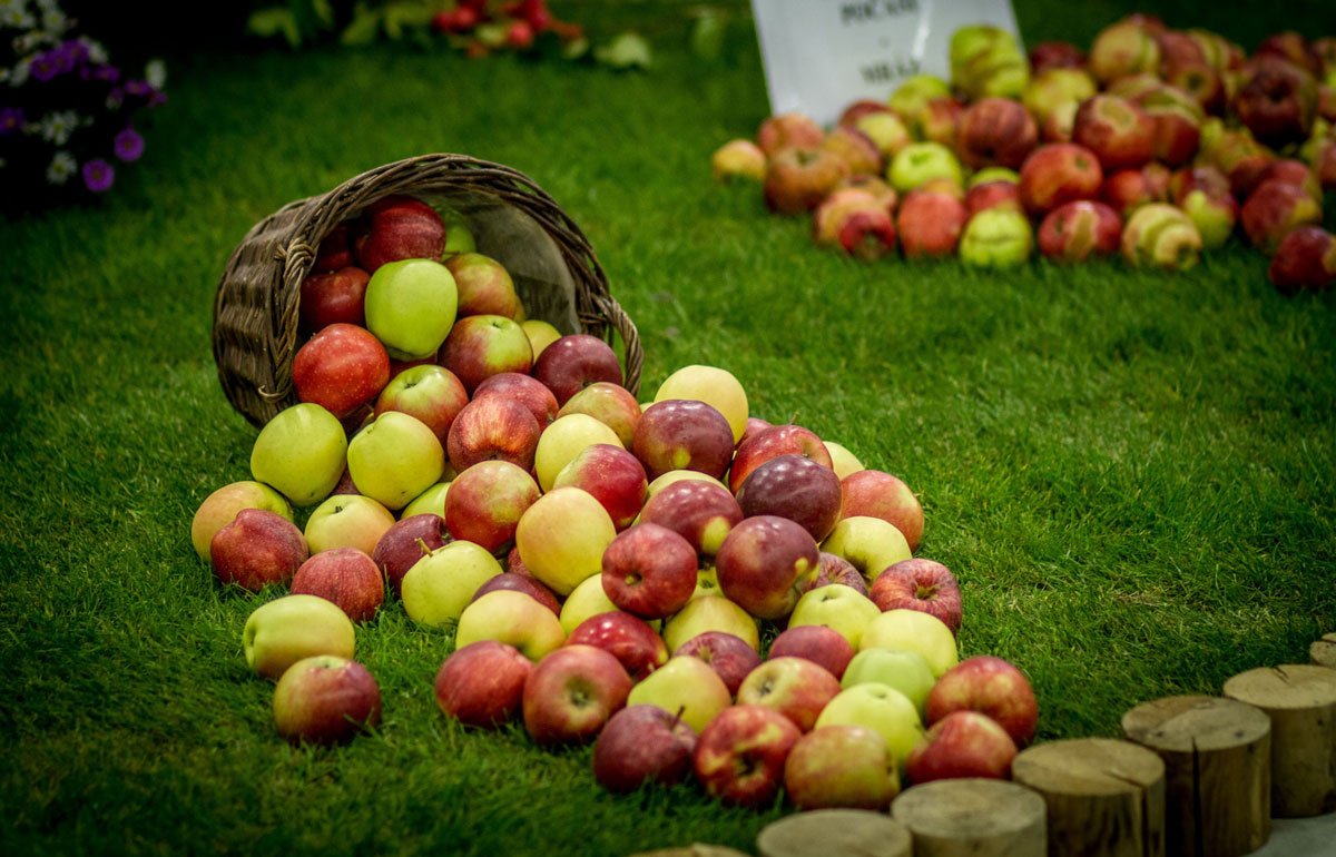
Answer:
[[[775,821],[756,836],[760,857],[911,857],[904,825],[867,809],[814,809]]]

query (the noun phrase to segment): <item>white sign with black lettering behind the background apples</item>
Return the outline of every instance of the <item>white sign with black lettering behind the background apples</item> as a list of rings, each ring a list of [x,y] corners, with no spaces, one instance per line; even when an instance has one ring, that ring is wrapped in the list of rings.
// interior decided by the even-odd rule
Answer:
[[[771,113],[822,124],[911,75],[950,80],[961,27],[993,24],[1021,40],[1010,0],[752,0],[752,12]]]

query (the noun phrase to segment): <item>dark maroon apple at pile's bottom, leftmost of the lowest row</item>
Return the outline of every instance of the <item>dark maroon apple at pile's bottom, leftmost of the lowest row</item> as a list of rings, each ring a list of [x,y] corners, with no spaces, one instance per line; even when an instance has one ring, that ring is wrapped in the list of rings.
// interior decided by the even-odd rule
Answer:
[[[691,774],[696,733],[657,705],[628,705],[613,714],[593,745],[593,778],[625,794],[647,782],[672,785]]]

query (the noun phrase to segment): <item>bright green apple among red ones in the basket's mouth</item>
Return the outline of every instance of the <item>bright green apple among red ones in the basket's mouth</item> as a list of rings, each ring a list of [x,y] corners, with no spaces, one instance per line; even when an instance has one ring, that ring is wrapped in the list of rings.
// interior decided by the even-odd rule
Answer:
[[[391,358],[421,360],[450,334],[460,291],[434,259],[401,259],[378,267],[366,283],[366,327]]]

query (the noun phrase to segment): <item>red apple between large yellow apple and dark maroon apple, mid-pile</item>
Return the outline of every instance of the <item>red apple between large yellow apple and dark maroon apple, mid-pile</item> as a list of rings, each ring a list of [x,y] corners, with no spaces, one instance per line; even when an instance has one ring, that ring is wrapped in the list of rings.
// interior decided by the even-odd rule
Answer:
[[[696,591],[696,549],[668,527],[637,523],[603,551],[603,590],[640,618],[672,615]]]

